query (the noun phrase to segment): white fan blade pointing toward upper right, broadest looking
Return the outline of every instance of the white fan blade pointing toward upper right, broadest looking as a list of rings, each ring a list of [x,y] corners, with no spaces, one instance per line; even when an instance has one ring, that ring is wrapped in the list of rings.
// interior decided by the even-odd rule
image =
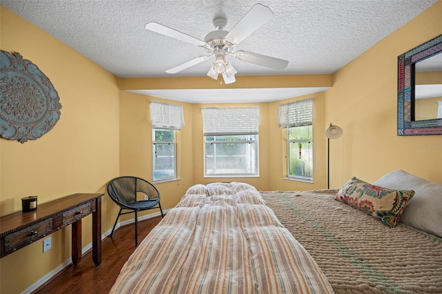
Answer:
[[[229,45],[235,46],[271,19],[271,17],[273,17],[273,12],[270,8],[262,4],[255,4],[251,10],[236,23],[236,26],[232,28],[224,39]]]

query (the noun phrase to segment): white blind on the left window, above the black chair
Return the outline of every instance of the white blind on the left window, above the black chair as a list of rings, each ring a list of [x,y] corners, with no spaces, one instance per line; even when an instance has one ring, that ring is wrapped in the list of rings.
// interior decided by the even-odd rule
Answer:
[[[180,130],[184,126],[182,106],[152,101],[150,109],[153,128]]]

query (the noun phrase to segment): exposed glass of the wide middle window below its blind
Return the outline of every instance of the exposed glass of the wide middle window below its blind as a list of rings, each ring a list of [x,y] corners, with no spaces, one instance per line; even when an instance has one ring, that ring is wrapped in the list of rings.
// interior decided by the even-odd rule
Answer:
[[[205,138],[205,175],[258,175],[257,135]]]

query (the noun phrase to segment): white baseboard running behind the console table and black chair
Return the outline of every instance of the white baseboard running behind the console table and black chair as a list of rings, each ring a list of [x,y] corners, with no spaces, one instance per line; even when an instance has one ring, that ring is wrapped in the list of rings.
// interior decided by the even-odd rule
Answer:
[[[164,215],[169,212],[169,209],[163,210]],[[161,213],[152,213],[151,215],[144,215],[142,217],[138,217],[138,222],[143,221],[144,219],[153,219],[154,217],[159,217]],[[117,230],[120,226],[126,226],[127,224],[133,224],[135,222],[135,219],[129,219],[124,222],[119,222],[117,226],[115,226],[115,230]],[[106,231],[104,234],[102,234],[102,240],[108,235],[111,235],[112,228]],[[84,248],[81,248],[81,255],[84,255],[84,253],[88,252],[92,248],[92,243],[86,245]],[[23,291],[23,294],[30,294],[37,290],[41,285],[48,282],[52,277],[55,277],[58,273],[64,270],[67,266],[72,264],[72,259],[68,258],[65,262],[54,268],[52,271],[50,271],[47,275],[44,277],[41,277],[40,280],[32,284],[29,288],[27,288],[25,291]]]

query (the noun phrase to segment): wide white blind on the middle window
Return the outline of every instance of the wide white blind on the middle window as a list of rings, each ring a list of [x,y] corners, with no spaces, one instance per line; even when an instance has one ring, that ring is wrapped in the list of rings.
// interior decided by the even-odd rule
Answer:
[[[202,108],[204,136],[256,135],[260,124],[260,108]]]

